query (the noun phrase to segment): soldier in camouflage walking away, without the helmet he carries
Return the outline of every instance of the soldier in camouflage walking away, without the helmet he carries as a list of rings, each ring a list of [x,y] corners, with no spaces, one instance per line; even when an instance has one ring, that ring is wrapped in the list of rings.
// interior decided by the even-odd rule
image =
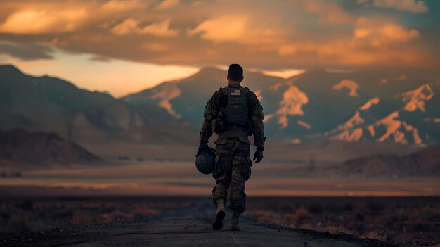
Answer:
[[[224,203],[230,187],[229,208],[233,210],[231,229],[240,230],[240,213],[245,210],[245,181],[250,178],[252,161],[250,159],[250,141],[254,136],[257,151],[254,162],[263,159],[264,151],[264,114],[257,95],[240,84],[243,69],[238,64],[229,65],[228,86],[220,88],[209,99],[204,113],[202,130],[200,131],[200,150],[209,148],[207,142],[212,132],[218,134],[216,157],[212,177],[216,185],[212,190],[212,201],[217,206],[212,227],[221,229],[226,216]]]

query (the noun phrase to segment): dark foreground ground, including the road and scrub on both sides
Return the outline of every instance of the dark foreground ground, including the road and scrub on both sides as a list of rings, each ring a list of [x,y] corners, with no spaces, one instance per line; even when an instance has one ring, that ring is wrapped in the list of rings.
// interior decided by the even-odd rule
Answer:
[[[2,198],[2,246],[436,246],[440,198],[250,197],[240,232],[208,197]]]

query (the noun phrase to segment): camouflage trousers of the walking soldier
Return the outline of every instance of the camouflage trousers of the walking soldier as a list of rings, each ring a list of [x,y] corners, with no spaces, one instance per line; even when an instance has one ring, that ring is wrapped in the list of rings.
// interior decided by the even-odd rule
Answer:
[[[216,185],[212,190],[212,201],[223,198],[226,202],[229,194],[229,208],[240,213],[245,211],[245,181],[250,178],[252,162],[250,159],[250,142],[247,139],[234,137],[219,139],[216,144],[216,164],[212,177]]]

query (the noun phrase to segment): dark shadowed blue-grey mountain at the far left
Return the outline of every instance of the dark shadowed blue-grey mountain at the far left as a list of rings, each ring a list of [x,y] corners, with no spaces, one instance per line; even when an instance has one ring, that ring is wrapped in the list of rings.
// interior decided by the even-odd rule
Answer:
[[[168,141],[186,134],[180,120],[154,104],[129,106],[55,77],[25,75],[12,65],[0,66],[0,113],[0,129],[56,132],[76,142]]]

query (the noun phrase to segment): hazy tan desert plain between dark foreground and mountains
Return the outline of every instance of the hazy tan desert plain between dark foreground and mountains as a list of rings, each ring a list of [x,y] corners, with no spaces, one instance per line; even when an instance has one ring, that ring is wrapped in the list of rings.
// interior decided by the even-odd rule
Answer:
[[[333,174],[332,165],[254,164],[246,184],[249,196],[439,196],[438,177],[351,176]],[[131,195],[206,196],[214,179],[191,161],[118,160],[117,165],[24,170],[1,177],[5,196]],[[57,192],[58,191],[58,192]]]

